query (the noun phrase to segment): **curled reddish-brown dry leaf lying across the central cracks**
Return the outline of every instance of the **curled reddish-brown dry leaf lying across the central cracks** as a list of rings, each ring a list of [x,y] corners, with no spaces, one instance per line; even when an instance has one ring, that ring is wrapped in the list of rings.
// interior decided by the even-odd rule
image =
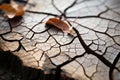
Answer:
[[[64,21],[57,19],[57,18],[50,18],[46,24],[50,24],[53,25],[54,27],[62,30],[64,33],[69,33],[71,35],[74,35],[74,30],[72,29],[72,27],[69,27],[67,25],[67,23],[65,23]]]

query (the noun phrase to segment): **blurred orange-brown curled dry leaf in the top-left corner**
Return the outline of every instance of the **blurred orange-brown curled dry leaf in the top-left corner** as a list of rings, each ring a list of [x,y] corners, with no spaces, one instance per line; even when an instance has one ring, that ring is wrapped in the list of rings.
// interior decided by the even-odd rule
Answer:
[[[14,18],[22,16],[25,12],[23,5],[17,4],[14,1],[11,1],[11,4],[3,3],[0,5],[0,10],[5,11],[5,17]]]

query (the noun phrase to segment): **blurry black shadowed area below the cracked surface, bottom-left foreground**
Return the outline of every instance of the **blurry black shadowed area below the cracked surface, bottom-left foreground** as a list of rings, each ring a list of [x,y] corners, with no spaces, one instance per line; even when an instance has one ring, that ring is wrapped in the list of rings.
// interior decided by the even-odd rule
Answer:
[[[55,80],[55,74],[23,65],[10,51],[0,50],[0,80]],[[74,80],[62,75],[60,80]]]

